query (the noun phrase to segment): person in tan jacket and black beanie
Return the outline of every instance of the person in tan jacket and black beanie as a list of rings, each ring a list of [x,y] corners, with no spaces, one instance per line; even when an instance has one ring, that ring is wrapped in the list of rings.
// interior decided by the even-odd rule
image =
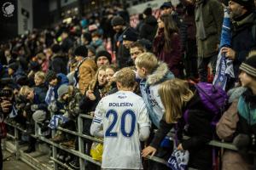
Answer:
[[[79,46],[74,50],[75,59],[79,62],[75,70],[75,87],[79,88],[81,94],[84,94],[90,81],[96,74],[97,66],[93,59],[89,59],[88,49],[85,46]]]

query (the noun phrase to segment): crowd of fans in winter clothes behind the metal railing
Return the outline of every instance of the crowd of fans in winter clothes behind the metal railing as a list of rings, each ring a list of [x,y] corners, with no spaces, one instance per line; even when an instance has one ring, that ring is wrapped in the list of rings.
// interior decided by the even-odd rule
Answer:
[[[231,0],[228,6],[232,38],[230,47],[222,48],[222,52],[233,61],[235,76],[227,81],[225,90],[230,90],[230,108],[226,108],[229,109],[220,119],[217,133],[220,139],[230,142],[234,139],[233,143],[240,150],[239,153],[225,150],[223,169],[252,169],[252,156],[247,155],[247,150],[255,147],[256,135],[256,54],[249,54],[256,47],[255,6],[253,0]],[[33,30],[3,42],[1,86],[12,89],[14,94],[9,120],[25,128],[26,134],[34,133],[34,124],[38,122],[42,135],[79,150],[76,136],[57,131],[51,138],[49,128],[77,131],[79,114],[93,116],[100,100],[118,91],[115,74],[129,67],[137,72],[134,93],[144,99],[152,132],[160,129],[154,139],[150,137],[146,142],[149,146],[143,150],[143,156],[159,148],[157,156],[170,157],[171,147],[167,150],[163,144],[159,147],[160,139],[182,114],[170,117],[167,112],[172,114],[175,107],[174,111],[185,111],[189,105],[189,112],[194,113],[189,117],[191,139],[181,142],[177,148],[189,150],[189,167],[211,169],[212,147],[207,145],[212,139],[211,118],[206,116],[198,94],[193,98],[192,94],[195,92],[193,84],[212,82],[212,75],[215,75],[224,8],[227,7],[218,0],[181,0],[176,7],[163,3],[158,19],[152,8],[145,8],[133,28],[129,25],[128,12],[116,5],[83,19],[73,18],[71,23]],[[7,83],[2,83],[4,80],[8,80]],[[170,100],[170,104],[163,99]],[[236,119],[231,119],[229,114]],[[92,120],[84,119],[84,134],[91,135],[91,124]],[[22,138],[20,142],[28,141],[25,152],[31,153],[36,150],[36,139],[26,134],[23,137],[28,139]],[[84,143],[84,153],[90,155],[92,141],[84,139]],[[79,169],[77,157],[59,150],[58,159]],[[153,162],[143,166],[145,169],[168,168]],[[90,162],[86,162],[86,167],[99,168]]]

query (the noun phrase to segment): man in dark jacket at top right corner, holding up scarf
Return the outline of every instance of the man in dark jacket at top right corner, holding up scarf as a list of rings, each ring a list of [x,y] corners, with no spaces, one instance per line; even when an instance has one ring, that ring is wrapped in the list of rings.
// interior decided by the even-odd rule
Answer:
[[[232,20],[232,39],[230,48],[222,48],[225,57],[233,60],[235,80],[228,82],[228,88],[238,82],[239,66],[247,54],[256,48],[256,15],[253,0],[232,0],[229,2]]]

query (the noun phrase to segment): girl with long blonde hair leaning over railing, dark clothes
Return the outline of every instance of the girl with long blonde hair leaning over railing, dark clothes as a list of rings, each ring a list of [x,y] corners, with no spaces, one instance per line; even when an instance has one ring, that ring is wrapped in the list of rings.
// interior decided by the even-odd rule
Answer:
[[[175,127],[177,150],[189,150],[189,167],[212,169],[212,146],[207,143],[213,135],[213,114],[205,109],[195,85],[174,78],[160,85],[159,94],[165,114],[151,144],[143,150],[143,156],[154,156],[162,139]],[[189,139],[183,139],[183,133]]]

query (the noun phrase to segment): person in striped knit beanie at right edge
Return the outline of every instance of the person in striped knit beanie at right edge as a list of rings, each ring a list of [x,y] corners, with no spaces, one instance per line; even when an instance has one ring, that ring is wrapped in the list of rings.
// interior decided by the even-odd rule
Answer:
[[[253,157],[247,156],[247,150],[256,150],[256,51],[248,54],[247,59],[241,63],[240,70],[241,86],[247,90],[238,100],[238,135],[233,144],[243,157],[246,156],[248,162],[253,162]]]

